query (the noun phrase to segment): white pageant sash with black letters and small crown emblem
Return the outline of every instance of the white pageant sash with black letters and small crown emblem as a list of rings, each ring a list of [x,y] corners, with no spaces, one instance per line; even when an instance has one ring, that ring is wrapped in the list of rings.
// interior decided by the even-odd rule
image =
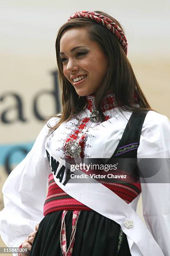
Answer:
[[[50,154],[51,166],[52,155],[49,149],[47,149],[47,151]],[[65,181],[65,174],[62,182],[56,178],[56,175],[61,167],[65,166],[65,160],[57,159],[56,157],[57,156],[55,156],[56,161],[59,162],[55,175],[53,173],[56,184],[77,201],[120,224],[122,231],[127,235],[132,256],[164,256],[160,246],[135,212],[140,195],[128,204],[95,179],[87,180],[88,183],[76,183],[78,180],[76,181],[76,178],[74,178],[75,183],[71,183],[73,182],[73,179],[70,179],[63,185],[62,183]],[[74,173],[80,175],[84,172],[76,170]],[[90,180],[92,180],[93,183],[90,183]],[[124,222],[127,221],[127,219],[133,220],[133,227],[126,227]]]

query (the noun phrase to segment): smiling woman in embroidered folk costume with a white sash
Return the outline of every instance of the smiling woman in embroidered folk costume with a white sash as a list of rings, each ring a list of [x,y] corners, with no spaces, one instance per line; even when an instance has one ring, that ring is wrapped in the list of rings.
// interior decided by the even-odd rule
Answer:
[[[170,122],[140,89],[120,23],[99,11],[77,12],[58,32],[56,55],[63,110],[3,186],[3,241],[31,256],[170,255],[169,184],[148,184],[145,175],[140,184],[131,161],[169,158]],[[80,167],[94,159],[107,166],[118,159],[109,174],[121,179],[89,179],[95,170]],[[150,232],[135,213],[141,191]]]

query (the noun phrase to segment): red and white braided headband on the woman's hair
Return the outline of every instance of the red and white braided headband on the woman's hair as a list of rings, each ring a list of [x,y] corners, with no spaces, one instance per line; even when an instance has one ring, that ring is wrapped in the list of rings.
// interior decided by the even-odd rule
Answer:
[[[125,34],[116,23],[110,20],[110,18],[107,18],[106,16],[103,16],[99,13],[80,11],[71,15],[68,21],[75,18],[87,18],[90,20],[94,20],[97,23],[100,23],[105,28],[109,29],[115,35],[117,40],[120,42],[123,50],[125,51],[125,54],[127,55],[128,43],[125,38]]]

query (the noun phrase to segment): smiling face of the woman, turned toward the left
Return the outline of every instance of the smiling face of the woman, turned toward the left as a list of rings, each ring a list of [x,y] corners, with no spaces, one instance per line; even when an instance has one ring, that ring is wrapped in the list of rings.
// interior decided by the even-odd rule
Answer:
[[[108,61],[87,28],[70,28],[60,39],[63,73],[79,96],[95,94],[105,78]],[[74,79],[74,80],[73,80]]]

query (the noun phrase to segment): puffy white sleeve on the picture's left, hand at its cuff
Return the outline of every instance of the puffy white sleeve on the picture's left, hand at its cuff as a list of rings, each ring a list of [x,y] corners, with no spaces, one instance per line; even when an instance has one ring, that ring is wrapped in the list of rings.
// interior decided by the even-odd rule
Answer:
[[[50,125],[51,120],[47,122]],[[13,169],[3,185],[5,207],[0,212],[0,235],[8,247],[20,246],[44,217],[43,205],[51,171],[45,151],[49,131],[45,124],[31,151]]]

